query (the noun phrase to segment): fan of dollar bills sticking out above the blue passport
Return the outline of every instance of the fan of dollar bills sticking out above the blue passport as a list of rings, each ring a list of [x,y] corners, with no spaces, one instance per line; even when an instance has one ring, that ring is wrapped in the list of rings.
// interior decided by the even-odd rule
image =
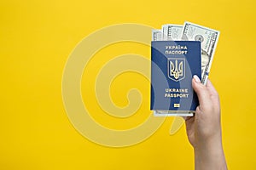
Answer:
[[[166,24],[161,30],[152,31],[152,41],[200,41],[201,42],[201,82],[207,83],[213,55],[217,47],[219,31],[190,22],[182,25]]]

